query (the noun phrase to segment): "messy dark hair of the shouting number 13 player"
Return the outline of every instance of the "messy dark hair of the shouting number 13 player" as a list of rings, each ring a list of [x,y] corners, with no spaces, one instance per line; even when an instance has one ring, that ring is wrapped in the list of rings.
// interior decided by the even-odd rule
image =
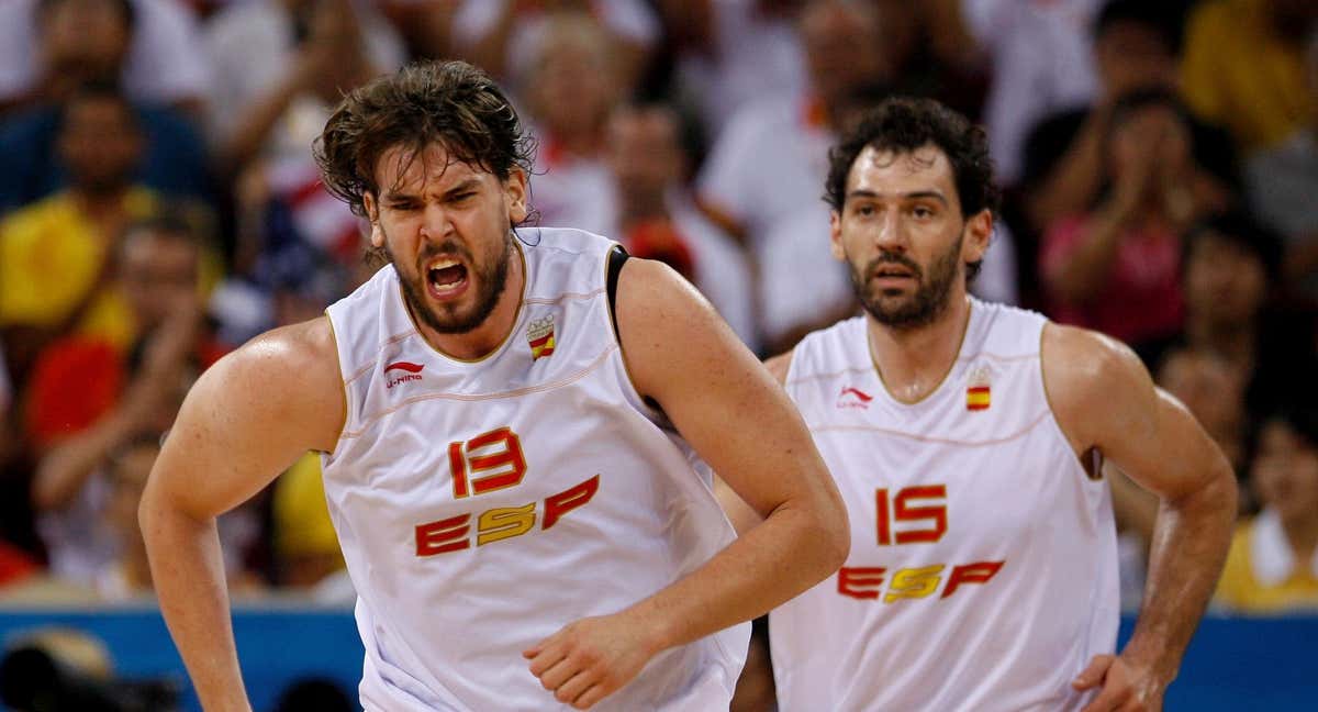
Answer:
[[[380,195],[376,165],[401,146],[411,161],[431,144],[448,160],[507,179],[531,173],[534,141],[513,104],[484,71],[467,62],[416,62],[344,96],[314,153],[326,187],[365,215],[362,196]]]

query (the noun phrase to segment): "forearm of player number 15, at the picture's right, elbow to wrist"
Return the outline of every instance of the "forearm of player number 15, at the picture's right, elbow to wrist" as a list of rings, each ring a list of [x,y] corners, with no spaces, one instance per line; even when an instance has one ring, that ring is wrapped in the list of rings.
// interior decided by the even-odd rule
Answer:
[[[1164,501],[1153,529],[1144,605],[1123,657],[1170,682],[1207,608],[1231,543],[1236,485],[1224,467],[1202,489]]]

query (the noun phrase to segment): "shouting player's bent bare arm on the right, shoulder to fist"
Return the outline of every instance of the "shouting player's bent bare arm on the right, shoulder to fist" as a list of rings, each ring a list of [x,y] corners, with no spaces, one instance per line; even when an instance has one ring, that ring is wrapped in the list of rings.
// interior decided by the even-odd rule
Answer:
[[[617,626],[598,639],[638,638],[609,650],[633,661],[622,672],[619,666],[593,672],[593,655],[580,645],[589,626],[569,625],[527,651],[542,683],[580,708],[621,687],[658,651],[751,620],[805,591],[836,571],[849,547],[846,509],[805,423],[695,287],[662,264],[631,260],[622,270],[617,314],[637,389],[663,406],[763,522],[684,579],[593,624]],[[564,659],[568,665],[558,666]]]

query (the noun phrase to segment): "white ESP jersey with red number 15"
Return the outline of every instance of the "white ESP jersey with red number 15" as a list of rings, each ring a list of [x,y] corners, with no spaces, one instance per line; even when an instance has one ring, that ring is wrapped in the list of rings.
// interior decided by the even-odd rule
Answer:
[[[1107,483],[1044,393],[1037,314],[971,301],[925,400],[879,380],[865,318],[792,356],[797,403],[847,502],[846,566],[770,614],[784,712],[1058,711],[1119,617]]]

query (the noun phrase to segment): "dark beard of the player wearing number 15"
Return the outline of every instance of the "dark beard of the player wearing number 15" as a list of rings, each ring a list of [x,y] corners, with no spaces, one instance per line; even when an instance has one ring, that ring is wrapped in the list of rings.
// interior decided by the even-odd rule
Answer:
[[[883,326],[911,330],[929,326],[948,310],[952,283],[961,274],[961,243],[963,235],[948,252],[934,257],[928,273],[915,260],[896,252],[879,252],[865,269],[857,269],[847,260],[851,273],[851,289],[876,322]],[[916,280],[915,294],[886,294],[879,287],[870,286],[870,276],[886,264],[902,265],[911,270]]]

